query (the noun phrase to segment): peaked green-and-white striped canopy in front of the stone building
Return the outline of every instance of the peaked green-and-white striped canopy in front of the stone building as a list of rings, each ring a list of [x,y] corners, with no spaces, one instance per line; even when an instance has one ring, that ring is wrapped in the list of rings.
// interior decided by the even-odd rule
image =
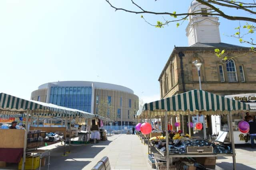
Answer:
[[[242,110],[250,110],[250,106],[203,90],[191,90],[170,98],[144,104],[143,108],[137,112],[137,118],[161,117],[165,115],[165,111],[168,115],[188,115],[188,113],[226,115],[230,111]]]

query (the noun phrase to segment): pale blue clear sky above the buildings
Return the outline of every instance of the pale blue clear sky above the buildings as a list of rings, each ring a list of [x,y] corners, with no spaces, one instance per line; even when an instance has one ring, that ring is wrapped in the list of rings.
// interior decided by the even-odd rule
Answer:
[[[134,1],[146,10],[177,13],[187,12],[191,2]],[[130,0],[110,2],[138,10]],[[220,23],[222,42],[241,45],[227,36],[239,21]],[[115,12],[105,0],[1,0],[0,92],[30,99],[41,84],[81,80],[126,86],[144,102],[158,100],[158,78],[174,45],[188,46],[187,24],[152,27],[140,14]]]

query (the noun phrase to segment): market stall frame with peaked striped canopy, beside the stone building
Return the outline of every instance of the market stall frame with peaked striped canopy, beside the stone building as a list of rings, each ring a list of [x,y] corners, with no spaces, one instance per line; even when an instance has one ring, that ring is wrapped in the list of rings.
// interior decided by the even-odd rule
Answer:
[[[142,111],[137,113],[138,119],[151,119],[162,117],[165,119],[165,130],[166,130],[166,144],[168,144],[168,149],[166,151],[162,150],[160,152],[162,156],[166,156],[166,166],[169,170],[170,157],[171,158],[187,158],[187,157],[214,157],[214,156],[232,156],[233,157],[233,168],[236,170],[236,159],[235,159],[235,147],[233,138],[233,129],[230,128],[230,142],[231,151],[228,153],[218,153],[214,152],[214,147],[211,147],[210,152],[206,152],[204,148],[198,146],[195,151],[200,151],[197,154],[195,152],[188,152],[188,147],[184,152],[172,152],[172,147],[169,146],[169,133],[167,120],[170,115],[188,115],[188,124],[190,124],[190,115],[227,115],[229,127],[232,127],[232,115],[236,111],[247,111],[249,110],[249,105],[238,102],[229,98],[224,98],[223,96],[218,96],[216,94],[211,94],[202,90],[192,90],[183,94],[178,94],[170,98],[165,98],[159,101],[144,104]],[[189,128],[189,133],[191,134],[191,129]],[[204,140],[207,142],[207,140]],[[172,141],[173,143],[174,141]],[[208,145],[208,144],[207,144]],[[204,147],[204,146],[202,146]],[[184,148],[183,148],[184,149]],[[169,152],[170,150],[170,152]]]

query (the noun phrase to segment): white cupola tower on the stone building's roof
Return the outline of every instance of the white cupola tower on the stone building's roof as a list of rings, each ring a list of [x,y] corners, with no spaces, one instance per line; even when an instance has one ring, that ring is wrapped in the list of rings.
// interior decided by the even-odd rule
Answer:
[[[200,4],[196,0],[191,2],[189,13],[210,12],[210,8]],[[220,31],[218,17],[208,15],[189,16],[189,23],[186,28],[188,45],[196,43],[220,43]]]

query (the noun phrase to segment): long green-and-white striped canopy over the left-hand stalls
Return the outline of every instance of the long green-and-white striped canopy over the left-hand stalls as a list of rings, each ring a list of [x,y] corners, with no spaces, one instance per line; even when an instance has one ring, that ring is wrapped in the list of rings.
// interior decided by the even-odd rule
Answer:
[[[0,117],[22,117],[24,113],[28,113],[36,117],[94,118],[96,116],[92,113],[87,113],[77,109],[34,100],[25,100],[9,94],[0,93]]]

